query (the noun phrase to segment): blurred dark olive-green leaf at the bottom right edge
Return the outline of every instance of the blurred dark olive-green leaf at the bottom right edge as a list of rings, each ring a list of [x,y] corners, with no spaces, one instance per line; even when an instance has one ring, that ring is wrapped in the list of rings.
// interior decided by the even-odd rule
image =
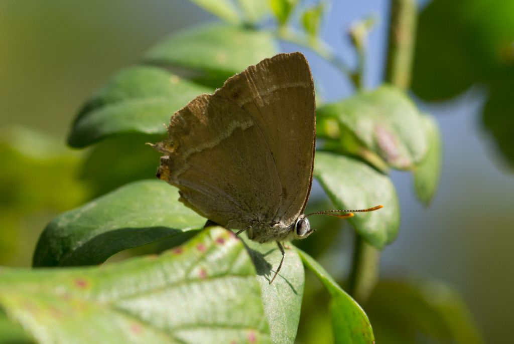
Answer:
[[[366,310],[379,342],[403,342],[402,337],[408,340],[422,333],[438,341],[482,343],[461,296],[439,282],[382,280]],[[390,333],[400,337],[386,340]]]

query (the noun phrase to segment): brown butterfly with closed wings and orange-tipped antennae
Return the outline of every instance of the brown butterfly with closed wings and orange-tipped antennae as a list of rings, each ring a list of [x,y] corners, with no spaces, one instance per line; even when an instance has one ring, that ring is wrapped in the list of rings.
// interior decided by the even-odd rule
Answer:
[[[170,120],[157,177],[179,188],[180,201],[258,242],[303,239],[313,181],[316,105],[310,68],[299,52],[278,54],[202,94]],[[357,210],[372,211],[378,207]]]

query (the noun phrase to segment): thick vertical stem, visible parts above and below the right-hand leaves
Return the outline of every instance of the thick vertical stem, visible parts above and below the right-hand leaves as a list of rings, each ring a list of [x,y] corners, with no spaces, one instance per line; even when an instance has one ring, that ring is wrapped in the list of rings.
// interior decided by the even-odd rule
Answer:
[[[404,90],[410,85],[416,15],[415,0],[391,0],[385,81]],[[365,305],[378,281],[380,252],[358,234],[354,247],[348,291],[359,304]]]

